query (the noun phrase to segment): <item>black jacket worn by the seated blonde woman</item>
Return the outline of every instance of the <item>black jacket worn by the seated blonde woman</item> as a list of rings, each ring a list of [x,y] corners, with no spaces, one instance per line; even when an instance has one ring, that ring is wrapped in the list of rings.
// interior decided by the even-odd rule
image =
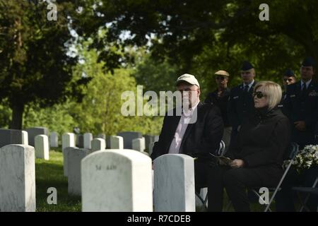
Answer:
[[[280,167],[290,145],[290,123],[280,109],[261,109],[245,120],[235,144],[228,150],[231,159],[242,159],[246,167]]]

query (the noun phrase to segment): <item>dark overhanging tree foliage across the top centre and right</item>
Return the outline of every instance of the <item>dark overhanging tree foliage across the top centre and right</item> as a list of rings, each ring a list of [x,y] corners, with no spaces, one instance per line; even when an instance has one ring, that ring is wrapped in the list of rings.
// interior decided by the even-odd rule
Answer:
[[[318,2],[281,1],[269,3],[269,21],[259,20],[263,3],[239,0],[102,1],[95,20],[85,21],[90,32],[107,25],[107,42],[146,45],[151,40],[154,57],[193,71],[196,57],[222,47],[217,63],[238,66],[252,58],[264,77],[283,66],[298,67],[305,55],[318,59]],[[293,22],[291,22],[293,21]],[[96,43],[100,43],[96,42]],[[97,45],[98,46],[98,45]],[[278,47],[278,48],[277,48]],[[102,55],[101,55],[102,57]],[[225,62],[225,64],[223,64]]]

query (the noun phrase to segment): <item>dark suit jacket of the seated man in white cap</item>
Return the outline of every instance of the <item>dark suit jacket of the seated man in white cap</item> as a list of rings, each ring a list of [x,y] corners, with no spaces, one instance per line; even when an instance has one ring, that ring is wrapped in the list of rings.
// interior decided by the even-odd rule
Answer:
[[[154,160],[160,155],[169,152],[170,144],[175,136],[180,116],[165,115],[163,128],[159,141],[153,146],[151,158]],[[188,124],[180,145],[179,153],[192,155],[193,157],[205,157],[208,153],[215,153],[223,136],[223,120],[220,110],[215,105],[199,102],[196,107],[197,119],[194,124]]]

